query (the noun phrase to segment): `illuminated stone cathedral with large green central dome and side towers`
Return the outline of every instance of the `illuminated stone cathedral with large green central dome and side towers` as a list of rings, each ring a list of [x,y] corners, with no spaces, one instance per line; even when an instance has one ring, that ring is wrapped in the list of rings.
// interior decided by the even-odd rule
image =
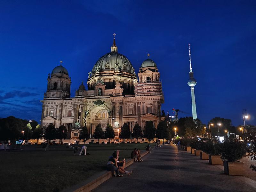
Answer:
[[[50,123],[55,128],[64,125],[68,139],[78,139],[79,129],[84,126],[90,137],[99,124],[103,131],[111,124],[115,137],[125,122],[130,130],[136,122],[142,130],[146,121],[157,126],[164,95],[156,63],[149,58],[143,61],[137,76],[128,58],[117,52],[115,36],[110,49],[88,73],[88,90],[82,82],[75,97],[70,97],[71,77],[62,62],[52,70],[41,100],[44,130]]]

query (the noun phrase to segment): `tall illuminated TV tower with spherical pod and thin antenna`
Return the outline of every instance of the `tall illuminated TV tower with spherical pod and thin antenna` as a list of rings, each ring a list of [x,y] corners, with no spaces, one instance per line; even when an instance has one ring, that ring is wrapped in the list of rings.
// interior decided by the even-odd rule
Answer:
[[[196,115],[196,100],[195,100],[195,86],[196,86],[196,79],[194,78],[194,73],[192,71],[191,65],[191,54],[190,54],[190,44],[188,44],[189,50],[189,64],[190,64],[190,71],[189,71],[189,79],[188,79],[188,86],[191,90],[191,98],[192,98],[192,116],[194,119],[197,118]]]

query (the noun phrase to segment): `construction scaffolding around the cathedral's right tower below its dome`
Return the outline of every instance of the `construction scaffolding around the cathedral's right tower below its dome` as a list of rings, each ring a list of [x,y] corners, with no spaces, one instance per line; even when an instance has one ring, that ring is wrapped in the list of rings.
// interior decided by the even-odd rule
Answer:
[[[149,95],[163,95],[162,82],[148,81],[148,82],[138,82],[135,86],[136,96],[149,96]]]

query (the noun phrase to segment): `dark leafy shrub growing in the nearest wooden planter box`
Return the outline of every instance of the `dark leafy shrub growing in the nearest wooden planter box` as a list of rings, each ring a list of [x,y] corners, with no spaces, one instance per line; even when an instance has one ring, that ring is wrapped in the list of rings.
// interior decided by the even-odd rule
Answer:
[[[226,139],[220,143],[220,158],[223,161],[236,162],[246,156],[246,143],[236,139]]]

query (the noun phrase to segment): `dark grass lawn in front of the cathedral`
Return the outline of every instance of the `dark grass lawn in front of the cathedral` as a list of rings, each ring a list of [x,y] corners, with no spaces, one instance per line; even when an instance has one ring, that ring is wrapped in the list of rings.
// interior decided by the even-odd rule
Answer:
[[[72,148],[55,145],[46,152],[36,145],[0,151],[1,191],[61,191],[106,170],[114,150],[120,150],[120,159],[129,160],[134,148],[144,151],[147,145],[86,144],[89,156],[73,156]]]

